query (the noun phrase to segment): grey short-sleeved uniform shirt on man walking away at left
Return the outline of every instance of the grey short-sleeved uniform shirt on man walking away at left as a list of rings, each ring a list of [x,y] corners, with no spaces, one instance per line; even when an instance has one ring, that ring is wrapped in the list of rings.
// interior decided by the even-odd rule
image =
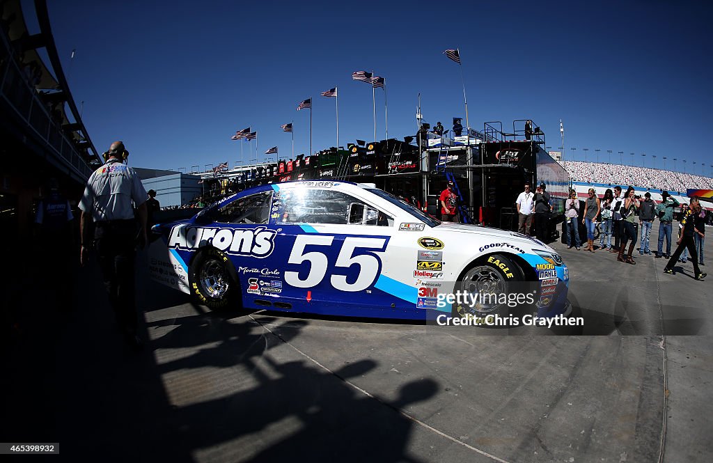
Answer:
[[[148,194],[133,168],[110,160],[89,177],[79,208],[91,213],[95,222],[130,220],[134,218],[133,208],[147,199]]]

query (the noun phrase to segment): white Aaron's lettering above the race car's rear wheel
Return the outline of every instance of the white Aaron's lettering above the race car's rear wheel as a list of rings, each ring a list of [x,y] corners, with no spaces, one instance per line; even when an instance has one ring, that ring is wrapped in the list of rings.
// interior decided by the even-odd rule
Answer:
[[[205,245],[232,255],[266,258],[275,250],[277,232],[258,228],[209,228],[176,225],[168,238],[168,248],[198,249]]]

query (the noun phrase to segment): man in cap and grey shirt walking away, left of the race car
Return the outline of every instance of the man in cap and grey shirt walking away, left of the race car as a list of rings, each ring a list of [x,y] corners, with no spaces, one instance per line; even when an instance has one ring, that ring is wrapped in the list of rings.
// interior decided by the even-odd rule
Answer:
[[[146,200],[148,195],[133,168],[125,166],[128,157],[123,142],[111,143],[104,153],[106,164],[94,171],[87,182],[79,203],[82,210],[80,235],[82,265],[95,248],[109,303],[123,332],[125,341],[140,347],[135,301],[135,247],[146,243]],[[140,229],[134,207],[138,210]],[[88,228],[96,223],[94,239]]]

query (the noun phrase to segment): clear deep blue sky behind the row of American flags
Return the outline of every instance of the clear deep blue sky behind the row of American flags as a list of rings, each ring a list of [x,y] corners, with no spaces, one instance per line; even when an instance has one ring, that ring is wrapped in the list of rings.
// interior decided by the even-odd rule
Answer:
[[[711,175],[710,57],[713,8],[706,1],[242,2],[51,1],[50,19],[71,92],[98,151],[117,139],[130,165],[188,168],[248,158],[231,141],[250,126],[258,152],[291,154],[373,138],[371,88],[353,71],[386,78],[389,136],[416,132],[421,93],[431,124],[464,117],[459,48],[471,126],[532,118],[565,156],[599,148],[636,153],[667,168],[678,158]],[[70,60],[71,51],[76,56]],[[70,62],[71,61],[71,62]],[[377,138],[384,93],[376,91]],[[571,151],[571,147],[578,148]],[[255,142],[252,145],[255,150]],[[645,153],[647,156],[640,156]],[[254,157],[254,155],[253,155]],[[693,162],[697,164],[692,165]]]

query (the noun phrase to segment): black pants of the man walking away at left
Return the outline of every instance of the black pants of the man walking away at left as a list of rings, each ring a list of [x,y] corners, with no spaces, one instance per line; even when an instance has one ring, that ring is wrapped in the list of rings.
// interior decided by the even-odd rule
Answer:
[[[138,326],[135,301],[135,220],[97,223],[95,245],[104,286],[116,322],[125,335]]]

